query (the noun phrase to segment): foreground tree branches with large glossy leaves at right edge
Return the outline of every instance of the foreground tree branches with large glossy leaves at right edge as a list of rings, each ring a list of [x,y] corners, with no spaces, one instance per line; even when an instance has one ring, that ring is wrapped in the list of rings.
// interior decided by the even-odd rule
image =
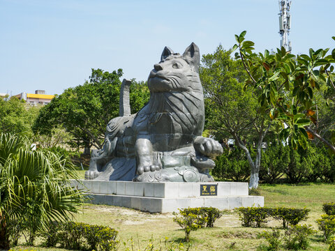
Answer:
[[[260,89],[258,102],[265,109],[271,107],[269,117],[281,123],[281,138],[290,138],[297,149],[298,145],[305,147],[308,138],[316,137],[335,153],[332,141],[318,132],[314,99],[322,85],[335,89],[335,49],[329,55],[329,49],[310,49],[308,54],[295,56],[284,47],[275,53],[265,50],[264,54],[255,54],[254,43],[245,40],[245,35],[246,31],[235,35],[233,50],[239,49],[235,58],[241,59],[248,74],[245,84]]]

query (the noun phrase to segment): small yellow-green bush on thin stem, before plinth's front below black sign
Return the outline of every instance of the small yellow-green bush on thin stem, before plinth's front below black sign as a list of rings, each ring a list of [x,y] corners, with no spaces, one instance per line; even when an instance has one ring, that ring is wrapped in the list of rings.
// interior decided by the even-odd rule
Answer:
[[[192,213],[192,211],[198,211],[198,213]],[[194,212],[193,211],[193,212]],[[185,241],[189,242],[190,241],[190,234],[192,230],[197,230],[202,227],[207,222],[207,216],[204,216],[202,213],[200,213],[200,209],[198,208],[189,208],[186,209],[179,209],[179,214],[178,213],[173,213],[174,214],[174,222],[177,222],[177,224],[184,229],[185,231]]]

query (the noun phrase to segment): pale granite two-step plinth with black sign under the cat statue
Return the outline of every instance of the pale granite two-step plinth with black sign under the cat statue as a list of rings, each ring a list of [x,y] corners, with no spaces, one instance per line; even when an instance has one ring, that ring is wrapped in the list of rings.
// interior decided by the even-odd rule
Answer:
[[[87,193],[89,203],[135,208],[150,213],[168,213],[178,208],[213,206],[233,209],[264,206],[264,197],[248,195],[248,183],[142,183],[131,181],[73,181]]]

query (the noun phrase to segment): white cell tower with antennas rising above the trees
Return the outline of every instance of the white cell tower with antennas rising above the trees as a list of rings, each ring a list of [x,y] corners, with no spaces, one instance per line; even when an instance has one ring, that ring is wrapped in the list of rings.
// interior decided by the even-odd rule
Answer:
[[[291,42],[288,40],[288,34],[291,28],[290,7],[292,1],[279,0],[279,33],[281,34],[281,47],[284,47],[287,52],[292,50]]]

